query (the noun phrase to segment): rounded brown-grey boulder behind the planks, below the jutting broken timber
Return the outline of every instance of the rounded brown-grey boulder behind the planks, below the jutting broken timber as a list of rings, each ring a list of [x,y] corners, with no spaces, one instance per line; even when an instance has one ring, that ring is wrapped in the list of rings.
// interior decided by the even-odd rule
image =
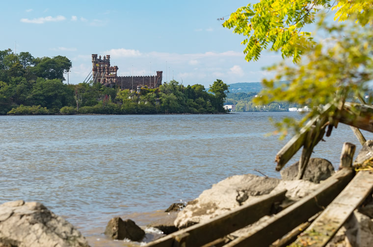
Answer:
[[[281,170],[281,177],[283,180],[296,180],[298,175],[299,161],[293,165]],[[334,173],[332,163],[324,158],[310,158],[304,171],[303,180],[319,183],[321,180],[326,180]]]

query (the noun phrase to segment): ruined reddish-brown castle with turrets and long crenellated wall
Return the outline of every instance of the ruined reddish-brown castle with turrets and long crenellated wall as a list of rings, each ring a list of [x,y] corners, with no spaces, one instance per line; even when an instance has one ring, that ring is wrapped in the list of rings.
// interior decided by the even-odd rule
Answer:
[[[110,66],[110,55],[101,59],[101,56],[97,58],[97,54],[92,54],[93,83],[99,82],[110,88],[130,90],[143,86],[154,89],[162,85],[162,71],[157,71],[157,75],[147,76],[117,76],[117,71],[118,66]]]

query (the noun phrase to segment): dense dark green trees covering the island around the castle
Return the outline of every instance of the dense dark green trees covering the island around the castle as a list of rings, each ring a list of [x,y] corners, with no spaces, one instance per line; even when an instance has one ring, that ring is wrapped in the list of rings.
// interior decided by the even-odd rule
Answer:
[[[0,114],[150,114],[225,112],[228,85],[216,80],[209,92],[199,84],[173,80],[139,92],[100,83],[64,84],[71,68],[64,56],[34,58],[28,52],[0,51]]]

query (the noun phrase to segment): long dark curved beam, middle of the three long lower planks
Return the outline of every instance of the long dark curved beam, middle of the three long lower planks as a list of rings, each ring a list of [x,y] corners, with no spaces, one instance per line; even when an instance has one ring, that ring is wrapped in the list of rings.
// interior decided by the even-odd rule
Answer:
[[[322,182],[319,188],[302,200],[273,215],[266,222],[258,225],[255,231],[239,237],[224,247],[268,247],[275,240],[284,236],[297,225],[307,221],[327,206],[352,179],[353,171],[342,169]]]

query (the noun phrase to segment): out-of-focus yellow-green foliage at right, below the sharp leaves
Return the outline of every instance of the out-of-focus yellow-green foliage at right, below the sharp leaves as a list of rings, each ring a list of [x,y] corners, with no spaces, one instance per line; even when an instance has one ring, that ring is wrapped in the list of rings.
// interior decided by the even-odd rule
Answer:
[[[338,24],[337,24],[338,25]],[[308,105],[314,112],[303,121],[317,115],[322,105],[344,102],[347,97],[367,91],[367,83],[373,79],[373,30],[354,22],[346,25],[324,25],[330,37],[323,44],[311,47],[297,65],[280,64],[273,69],[277,75],[265,80],[262,97],[255,99],[258,105],[273,101],[288,101]],[[275,87],[274,81],[290,83]],[[286,123],[279,124],[285,129]]]

